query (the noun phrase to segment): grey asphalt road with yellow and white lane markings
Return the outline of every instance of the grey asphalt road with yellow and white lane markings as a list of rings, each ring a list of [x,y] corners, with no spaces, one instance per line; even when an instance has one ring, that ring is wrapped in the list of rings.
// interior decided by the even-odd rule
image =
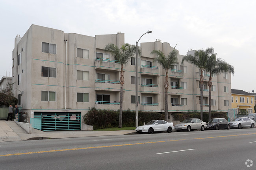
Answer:
[[[0,170],[255,170],[255,150],[256,128],[2,142]]]

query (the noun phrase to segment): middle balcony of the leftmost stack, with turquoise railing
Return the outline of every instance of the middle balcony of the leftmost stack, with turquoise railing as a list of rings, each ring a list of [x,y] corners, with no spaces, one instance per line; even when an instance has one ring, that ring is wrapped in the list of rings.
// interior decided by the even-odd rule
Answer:
[[[116,80],[96,79],[95,80],[95,90],[120,91],[120,84],[119,84],[119,81],[116,81]]]

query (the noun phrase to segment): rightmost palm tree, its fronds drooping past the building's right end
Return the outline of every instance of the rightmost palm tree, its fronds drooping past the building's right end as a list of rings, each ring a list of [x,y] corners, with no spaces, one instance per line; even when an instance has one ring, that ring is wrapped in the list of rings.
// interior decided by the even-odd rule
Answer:
[[[216,53],[213,53],[208,58],[208,63],[206,66],[206,71],[210,73],[209,80],[208,80],[208,86],[209,86],[209,118],[208,121],[211,120],[211,76],[212,75],[218,75],[220,73],[232,73],[234,75],[234,67],[230,64],[226,63],[223,59],[217,58],[216,59]]]

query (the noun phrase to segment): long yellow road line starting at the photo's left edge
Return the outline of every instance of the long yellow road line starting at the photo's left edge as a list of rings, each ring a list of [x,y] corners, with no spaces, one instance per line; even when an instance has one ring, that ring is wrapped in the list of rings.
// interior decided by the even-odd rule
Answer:
[[[145,143],[118,144],[118,145],[109,145],[109,146],[94,146],[94,147],[87,147],[87,148],[71,148],[71,149],[60,149],[60,150],[46,150],[46,151],[38,151],[38,152],[25,152],[25,153],[17,153],[17,154],[0,155],[0,157],[1,156],[13,156],[13,155],[26,155],[26,154],[40,154],[40,153],[47,153],[47,152],[60,152],[60,151],[70,151],[70,150],[108,148],[108,147],[115,147],[115,146],[131,146],[131,145],[135,145],[135,144],[163,143],[163,142],[172,142],[172,141],[185,141],[185,139],[170,140],[170,141],[145,142]]]

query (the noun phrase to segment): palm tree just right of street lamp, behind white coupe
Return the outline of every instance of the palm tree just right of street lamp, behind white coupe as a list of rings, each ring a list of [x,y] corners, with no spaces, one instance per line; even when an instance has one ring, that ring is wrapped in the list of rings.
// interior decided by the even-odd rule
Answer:
[[[163,67],[163,69],[165,69],[165,121],[168,121],[168,71],[174,62],[177,61],[177,51],[175,50],[175,47],[173,51],[171,51],[167,56],[165,56],[160,50],[153,50],[151,52],[151,54],[156,55],[154,62],[158,62]]]

